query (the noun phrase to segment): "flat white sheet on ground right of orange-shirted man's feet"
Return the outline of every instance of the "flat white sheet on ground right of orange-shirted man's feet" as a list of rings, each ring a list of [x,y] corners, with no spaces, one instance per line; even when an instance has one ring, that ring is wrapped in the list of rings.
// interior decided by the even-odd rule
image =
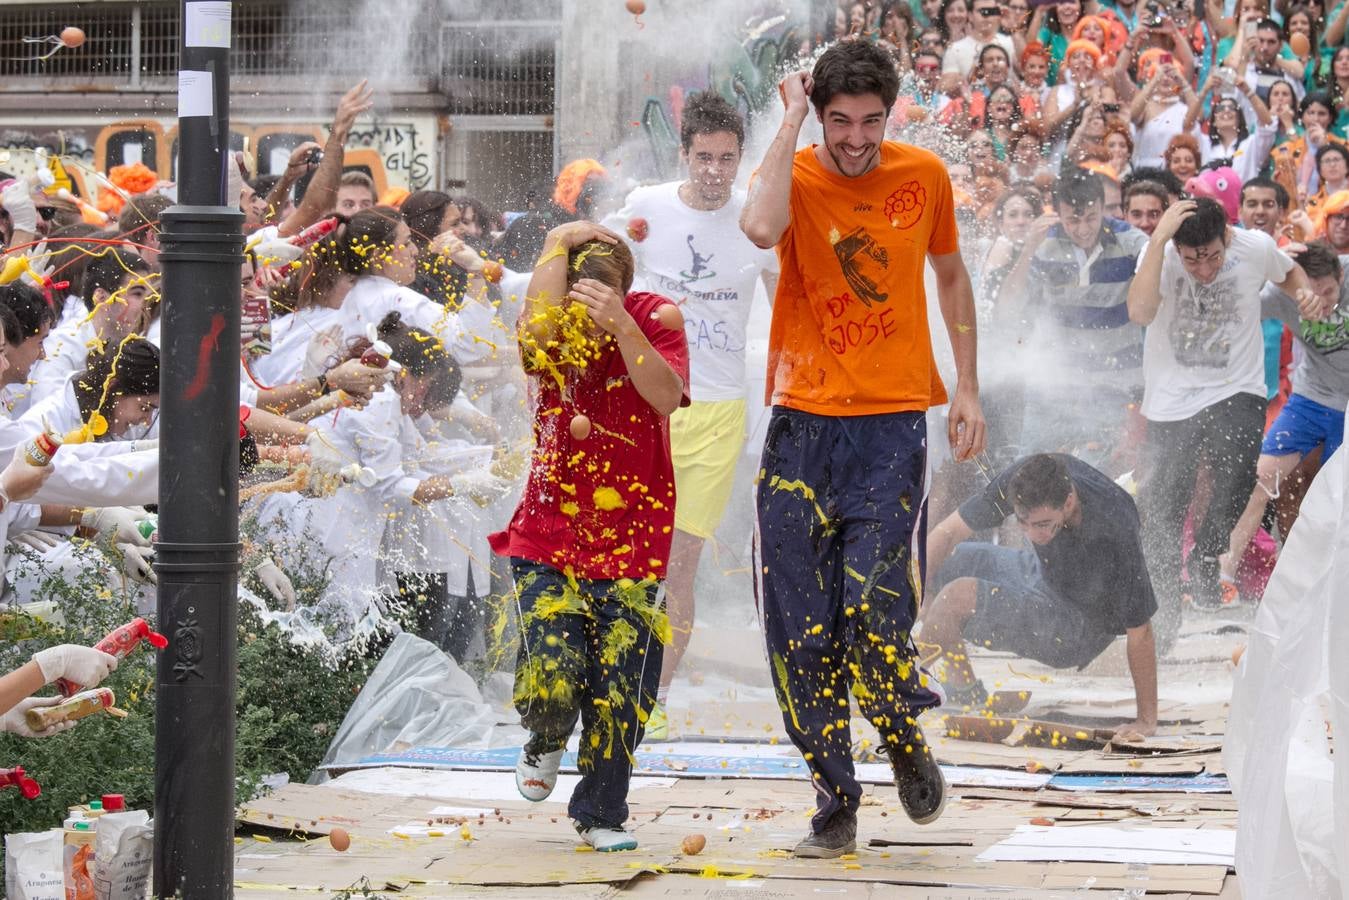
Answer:
[[[977,860],[981,862],[1125,862],[1219,865],[1236,861],[1237,833],[1218,828],[1072,828],[1020,826]]]

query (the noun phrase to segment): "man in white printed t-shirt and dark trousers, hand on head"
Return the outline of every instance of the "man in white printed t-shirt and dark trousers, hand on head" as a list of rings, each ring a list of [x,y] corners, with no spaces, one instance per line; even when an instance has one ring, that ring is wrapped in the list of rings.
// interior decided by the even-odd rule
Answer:
[[[1163,646],[1179,629],[1182,591],[1201,606],[1219,596],[1218,557],[1255,488],[1267,283],[1302,304],[1318,302],[1306,274],[1269,235],[1229,227],[1222,206],[1201,198],[1167,208],[1129,286],[1129,318],[1147,327],[1139,510]],[[1201,466],[1211,490],[1206,509],[1195,511],[1183,587],[1182,537]]]

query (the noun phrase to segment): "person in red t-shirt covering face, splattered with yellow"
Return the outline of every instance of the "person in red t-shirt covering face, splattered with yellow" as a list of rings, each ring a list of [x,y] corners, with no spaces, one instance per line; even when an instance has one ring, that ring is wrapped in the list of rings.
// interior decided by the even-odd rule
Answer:
[[[519,610],[514,694],[530,738],[515,784],[527,800],[552,793],[580,718],[568,814],[596,850],[637,847],[627,783],[669,640],[657,596],[674,529],[669,414],[689,403],[683,318],[658,294],[627,293],[633,267],[606,228],[549,232],[518,329],[534,453],[510,525],[490,538],[511,560]]]

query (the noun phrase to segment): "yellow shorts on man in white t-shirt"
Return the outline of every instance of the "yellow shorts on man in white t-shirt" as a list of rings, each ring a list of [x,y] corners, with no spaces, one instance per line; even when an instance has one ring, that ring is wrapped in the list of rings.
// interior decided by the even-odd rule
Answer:
[[[745,401],[695,401],[670,416],[674,528],[707,540],[726,513],[745,447]]]

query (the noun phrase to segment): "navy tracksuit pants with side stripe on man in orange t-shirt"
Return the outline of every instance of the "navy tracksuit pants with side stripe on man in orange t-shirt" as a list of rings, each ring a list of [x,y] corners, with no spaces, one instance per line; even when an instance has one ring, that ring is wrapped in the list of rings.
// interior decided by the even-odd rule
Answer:
[[[816,791],[812,826],[857,811],[849,692],[881,738],[940,698],[911,631],[923,595],[923,413],[773,409],[757,488],[764,634],[786,733]]]

